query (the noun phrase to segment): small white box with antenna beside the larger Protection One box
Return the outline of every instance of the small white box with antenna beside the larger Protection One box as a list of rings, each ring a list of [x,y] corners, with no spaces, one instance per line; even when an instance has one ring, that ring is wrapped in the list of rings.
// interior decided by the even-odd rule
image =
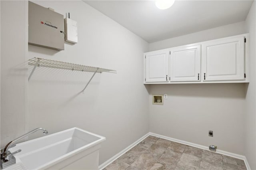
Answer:
[[[65,26],[65,41],[70,43],[77,43],[77,22],[70,18],[64,19]]]

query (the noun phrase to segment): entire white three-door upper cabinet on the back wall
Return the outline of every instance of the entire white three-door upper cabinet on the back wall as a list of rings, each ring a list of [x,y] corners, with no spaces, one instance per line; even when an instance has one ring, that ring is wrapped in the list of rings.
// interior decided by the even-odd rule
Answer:
[[[144,53],[144,83],[248,83],[247,36]]]

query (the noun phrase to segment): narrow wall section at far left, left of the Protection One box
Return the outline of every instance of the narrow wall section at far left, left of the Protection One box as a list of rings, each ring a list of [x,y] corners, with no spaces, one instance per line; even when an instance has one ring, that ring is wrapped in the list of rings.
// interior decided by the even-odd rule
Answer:
[[[1,3],[1,147],[24,133],[27,109],[26,1]],[[12,10],[10,10],[12,9]]]

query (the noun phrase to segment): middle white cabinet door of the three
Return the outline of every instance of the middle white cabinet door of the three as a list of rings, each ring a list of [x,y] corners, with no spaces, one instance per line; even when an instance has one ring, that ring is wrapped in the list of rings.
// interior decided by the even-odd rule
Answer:
[[[170,81],[200,81],[201,46],[170,49]]]

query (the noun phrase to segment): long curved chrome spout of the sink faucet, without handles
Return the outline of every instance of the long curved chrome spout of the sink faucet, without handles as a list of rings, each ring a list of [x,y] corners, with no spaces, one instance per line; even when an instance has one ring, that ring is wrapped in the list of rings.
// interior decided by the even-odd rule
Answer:
[[[28,136],[28,135],[30,135],[30,134],[32,134],[32,133],[38,131],[38,130],[42,130],[43,133],[48,134],[48,131],[47,131],[45,128],[35,128],[34,130],[31,130],[30,132],[27,132],[26,134],[23,134],[22,136],[20,136],[20,137],[18,137],[18,138],[16,138],[16,139],[12,140],[11,142],[9,142],[9,143],[4,147],[4,150],[3,150],[3,152],[2,152],[2,156],[1,156],[1,157],[2,157],[3,159],[6,159],[7,156],[8,156],[7,152],[8,152],[9,148],[10,148],[12,145],[16,144],[16,143],[17,143],[19,140],[21,140],[22,138],[24,138],[24,137],[26,137],[26,136]],[[6,161],[7,161],[7,160],[6,160]]]

